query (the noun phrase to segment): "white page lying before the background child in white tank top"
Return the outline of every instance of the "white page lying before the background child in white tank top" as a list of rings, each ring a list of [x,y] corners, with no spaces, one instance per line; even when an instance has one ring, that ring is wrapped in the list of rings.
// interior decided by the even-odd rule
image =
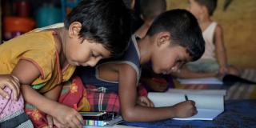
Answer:
[[[181,84],[223,84],[218,78],[178,78],[178,82]]]

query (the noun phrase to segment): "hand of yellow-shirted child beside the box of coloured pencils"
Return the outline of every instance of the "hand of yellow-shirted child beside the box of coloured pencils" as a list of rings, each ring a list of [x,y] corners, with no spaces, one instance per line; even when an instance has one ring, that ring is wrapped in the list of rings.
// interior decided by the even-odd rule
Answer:
[[[57,122],[60,122],[59,124],[67,127],[76,128],[82,127],[83,125],[83,118],[81,114],[73,108],[61,104],[56,106],[56,109],[54,110],[54,118],[57,119]],[[55,122],[56,121],[54,121],[54,123]]]

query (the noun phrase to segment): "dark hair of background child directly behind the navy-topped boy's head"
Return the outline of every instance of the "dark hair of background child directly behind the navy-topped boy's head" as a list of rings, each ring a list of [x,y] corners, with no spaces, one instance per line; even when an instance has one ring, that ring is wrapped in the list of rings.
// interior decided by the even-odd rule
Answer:
[[[140,0],[140,6],[143,17],[153,19],[166,11],[166,0]]]

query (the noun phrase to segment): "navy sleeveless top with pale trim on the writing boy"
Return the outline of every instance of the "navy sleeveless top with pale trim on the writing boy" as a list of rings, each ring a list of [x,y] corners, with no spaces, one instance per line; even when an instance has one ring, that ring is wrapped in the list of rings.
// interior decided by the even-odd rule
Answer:
[[[125,63],[132,68],[137,73],[137,83],[138,79],[140,78],[141,75],[141,67],[140,67],[140,54],[138,50],[138,44],[135,39],[135,35],[132,35],[130,39],[130,43],[128,46],[128,49],[126,50],[125,54],[118,59],[115,60],[107,60],[107,62],[102,62],[98,64],[96,67],[78,67],[78,75],[82,78],[82,81],[84,84],[88,85],[94,85],[98,87],[105,87],[107,92],[118,92],[118,82],[110,82],[106,81],[102,78],[99,78],[98,74],[98,68],[101,65],[104,64],[118,64],[118,63]]]

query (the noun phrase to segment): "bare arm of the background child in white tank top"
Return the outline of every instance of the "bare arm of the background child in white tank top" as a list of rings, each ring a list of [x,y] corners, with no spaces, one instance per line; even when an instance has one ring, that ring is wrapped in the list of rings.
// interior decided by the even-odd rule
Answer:
[[[226,72],[226,48],[223,42],[223,30],[221,26],[216,26],[214,30],[214,44],[216,46],[216,54],[218,58],[218,64],[220,66],[220,72],[224,74]]]

